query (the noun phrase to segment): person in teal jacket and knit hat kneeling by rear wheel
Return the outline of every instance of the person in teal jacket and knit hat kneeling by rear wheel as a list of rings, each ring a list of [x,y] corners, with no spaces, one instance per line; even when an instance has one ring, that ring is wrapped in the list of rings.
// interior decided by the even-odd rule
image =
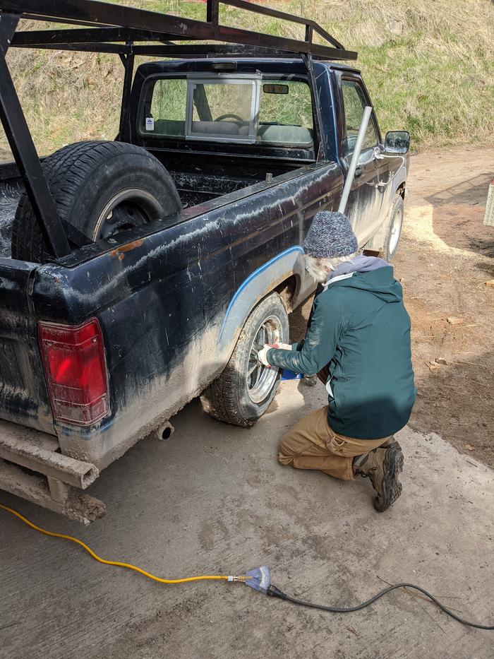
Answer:
[[[306,270],[324,284],[299,344],[265,345],[259,360],[296,373],[318,373],[329,405],[303,418],[282,439],[278,460],[354,480],[370,477],[374,507],[399,497],[403,453],[393,434],[406,425],[416,388],[410,318],[392,266],[359,256],[347,218],[315,215],[303,249]]]

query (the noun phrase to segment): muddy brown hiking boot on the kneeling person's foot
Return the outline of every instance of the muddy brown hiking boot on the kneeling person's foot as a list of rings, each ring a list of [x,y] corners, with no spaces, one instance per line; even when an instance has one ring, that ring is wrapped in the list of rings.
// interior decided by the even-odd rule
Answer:
[[[369,477],[378,493],[374,508],[382,513],[402,494],[398,474],[403,471],[402,447],[397,441],[379,446],[354,461],[354,474]]]

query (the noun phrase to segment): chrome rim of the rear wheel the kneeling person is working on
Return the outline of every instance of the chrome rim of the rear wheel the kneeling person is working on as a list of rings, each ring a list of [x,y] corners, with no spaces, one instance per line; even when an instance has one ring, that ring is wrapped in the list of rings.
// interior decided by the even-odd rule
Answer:
[[[255,333],[248,356],[246,386],[248,396],[253,403],[262,403],[269,396],[278,377],[277,367],[267,368],[258,361],[258,352],[265,343],[282,341],[282,321],[277,316],[270,316]]]

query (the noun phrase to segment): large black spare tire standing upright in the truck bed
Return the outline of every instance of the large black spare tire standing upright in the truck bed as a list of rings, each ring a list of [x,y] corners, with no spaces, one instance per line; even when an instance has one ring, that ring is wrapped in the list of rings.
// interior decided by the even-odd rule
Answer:
[[[49,155],[42,168],[61,219],[92,241],[182,208],[167,170],[140,146],[70,144]],[[20,197],[13,222],[12,257],[35,263],[52,259],[26,194]]]

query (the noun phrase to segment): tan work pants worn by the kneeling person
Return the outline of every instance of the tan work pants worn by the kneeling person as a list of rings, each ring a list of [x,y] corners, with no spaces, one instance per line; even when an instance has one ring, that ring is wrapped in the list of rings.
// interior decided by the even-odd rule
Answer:
[[[326,405],[299,421],[279,444],[278,461],[296,469],[318,469],[341,480],[354,480],[354,457],[381,444],[383,439],[352,439],[330,428]]]

